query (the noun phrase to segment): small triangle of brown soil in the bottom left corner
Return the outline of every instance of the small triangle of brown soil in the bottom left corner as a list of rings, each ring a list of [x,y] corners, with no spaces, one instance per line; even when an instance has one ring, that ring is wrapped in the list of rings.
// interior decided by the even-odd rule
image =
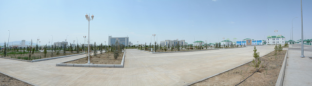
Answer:
[[[33,86],[0,73],[0,86]]]

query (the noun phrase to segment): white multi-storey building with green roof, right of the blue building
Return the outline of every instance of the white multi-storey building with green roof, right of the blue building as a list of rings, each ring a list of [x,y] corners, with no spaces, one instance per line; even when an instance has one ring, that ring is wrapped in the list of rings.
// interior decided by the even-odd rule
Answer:
[[[285,44],[285,37],[278,35],[278,36],[268,36],[267,44]]]

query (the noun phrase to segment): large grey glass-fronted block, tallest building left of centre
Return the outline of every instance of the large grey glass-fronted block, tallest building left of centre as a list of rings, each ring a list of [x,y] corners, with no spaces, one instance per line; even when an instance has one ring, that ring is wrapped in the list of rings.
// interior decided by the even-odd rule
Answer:
[[[118,41],[118,43],[123,44],[125,46],[129,45],[129,37],[112,37],[108,36],[108,45],[113,45]]]

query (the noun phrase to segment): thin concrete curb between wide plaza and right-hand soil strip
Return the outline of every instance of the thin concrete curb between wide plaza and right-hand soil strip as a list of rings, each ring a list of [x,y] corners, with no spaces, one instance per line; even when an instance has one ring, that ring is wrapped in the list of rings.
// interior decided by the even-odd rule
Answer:
[[[268,54],[269,54],[269,53],[268,53]],[[268,55],[268,54],[266,54],[266,55]],[[263,56],[265,56],[265,55],[263,55]],[[263,57],[263,56],[262,56],[262,57]],[[262,57],[260,57],[260,58],[262,58]],[[250,63],[250,62],[252,62],[252,61],[253,61],[253,60],[248,61],[248,62],[246,62],[246,63],[244,63],[244,64],[248,64],[248,63]],[[204,81],[204,80],[206,80],[206,79],[212,78],[212,77],[214,77],[214,76],[216,76],[216,75],[219,75],[219,74],[222,74],[222,73],[224,73],[224,72],[230,71],[230,70],[232,70],[232,69],[234,69],[234,68],[237,68],[237,67],[239,67],[239,66],[242,66],[242,65],[244,65],[244,64],[240,64],[240,65],[235,66],[235,67],[233,67],[233,68],[231,68],[231,69],[228,69],[228,70],[222,71],[222,72],[220,72],[220,73],[217,73],[217,74],[215,74],[215,75],[211,75],[211,76],[209,76],[209,77],[206,77],[206,78],[197,80],[197,81],[195,81],[195,82],[188,83],[188,84],[183,85],[183,86],[191,86],[191,85],[193,85],[193,84],[195,84],[195,83],[198,83],[198,82]]]

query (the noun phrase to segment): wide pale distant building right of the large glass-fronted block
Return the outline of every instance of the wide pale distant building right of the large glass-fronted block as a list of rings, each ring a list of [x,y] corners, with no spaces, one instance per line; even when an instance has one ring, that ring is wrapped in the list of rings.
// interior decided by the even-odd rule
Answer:
[[[165,40],[165,41],[160,41],[160,45],[161,46],[176,46],[176,44],[179,44],[179,45],[187,45],[188,43],[185,43],[185,40]]]

